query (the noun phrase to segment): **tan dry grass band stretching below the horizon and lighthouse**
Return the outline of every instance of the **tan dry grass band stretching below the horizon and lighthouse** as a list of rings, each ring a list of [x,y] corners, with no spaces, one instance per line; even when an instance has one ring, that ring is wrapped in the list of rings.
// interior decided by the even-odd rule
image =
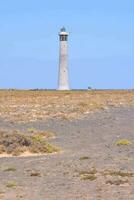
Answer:
[[[0,116],[11,122],[73,119],[111,106],[134,106],[134,91],[0,90]]]

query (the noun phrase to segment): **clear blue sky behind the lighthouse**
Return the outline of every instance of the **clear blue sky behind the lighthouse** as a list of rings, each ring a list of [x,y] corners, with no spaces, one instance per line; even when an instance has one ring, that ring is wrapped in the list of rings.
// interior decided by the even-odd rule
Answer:
[[[133,0],[1,0],[0,88],[56,88],[63,25],[72,88],[134,88]]]

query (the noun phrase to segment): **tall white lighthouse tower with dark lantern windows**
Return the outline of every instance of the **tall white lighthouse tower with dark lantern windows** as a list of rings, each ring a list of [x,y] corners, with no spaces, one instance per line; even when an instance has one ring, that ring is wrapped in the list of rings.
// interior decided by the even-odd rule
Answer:
[[[68,33],[63,27],[60,30],[60,57],[58,90],[70,90],[68,78]]]

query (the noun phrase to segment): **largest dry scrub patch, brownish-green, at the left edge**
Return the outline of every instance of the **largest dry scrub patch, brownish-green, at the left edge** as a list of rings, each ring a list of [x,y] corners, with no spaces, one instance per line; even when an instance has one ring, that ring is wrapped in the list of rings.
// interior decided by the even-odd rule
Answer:
[[[41,135],[25,135],[23,133],[0,132],[0,154],[13,156],[25,152],[45,154],[58,152],[60,149],[45,141]]]

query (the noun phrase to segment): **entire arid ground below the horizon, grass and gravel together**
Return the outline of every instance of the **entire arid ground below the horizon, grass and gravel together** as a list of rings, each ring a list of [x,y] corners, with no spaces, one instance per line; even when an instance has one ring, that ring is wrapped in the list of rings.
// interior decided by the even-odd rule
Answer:
[[[132,90],[1,90],[0,134],[0,200],[134,200]]]

